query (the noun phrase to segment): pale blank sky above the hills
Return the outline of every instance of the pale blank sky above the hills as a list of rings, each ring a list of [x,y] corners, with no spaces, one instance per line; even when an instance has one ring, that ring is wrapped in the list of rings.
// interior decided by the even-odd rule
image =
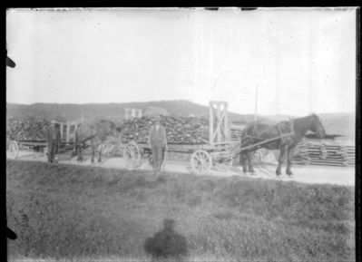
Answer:
[[[6,101],[355,112],[355,8],[10,9]]]

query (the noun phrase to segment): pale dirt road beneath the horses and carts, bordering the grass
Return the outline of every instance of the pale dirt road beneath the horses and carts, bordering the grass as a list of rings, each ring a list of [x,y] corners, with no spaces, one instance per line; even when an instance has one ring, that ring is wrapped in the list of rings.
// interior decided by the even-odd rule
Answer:
[[[61,164],[83,165],[102,168],[124,169],[125,164],[122,158],[107,158],[102,163],[91,163],[90,157],[86,156],[82,163],[78,163],[75,158],[70,159],[68,156],[60,156]],[[43,154],[34,154],[34,152],[20,151],[18,160],[36,160],[46,161]],[[255,179],[263,180],[277,180],[275,170],[277,165],[271,163],[256,164],[256,175],[250,176],[243,174],[239,167],[232,167],[229,171],[211,170],[208,175],[231,177],[231,176],[245,176]],[[142,165],[139,170],[150,170],[152,174],[152,167],[147,160],[142,160]],[[297,181],[302,183],[316,183],[316,184],[336,184],[345,186],[355,185],[355,168],[354,167],[328,167],[328,166],[298,166],[292,168],[294,178],[290,179],[288,176],[283,175],[278,180],[283,181]],[[191,173],[191,167],[188,161],[175,161],[166,160],[163,168],[165,172],[177,173]],[[285,170],[283,170],[285,171]]]

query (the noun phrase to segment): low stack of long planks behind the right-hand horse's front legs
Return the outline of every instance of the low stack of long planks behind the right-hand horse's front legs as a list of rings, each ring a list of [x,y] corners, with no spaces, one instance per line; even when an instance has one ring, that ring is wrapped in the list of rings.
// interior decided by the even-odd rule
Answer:
[[[324,166],[354,166],[355,146],[307,142],[298,145],[293,163]]]

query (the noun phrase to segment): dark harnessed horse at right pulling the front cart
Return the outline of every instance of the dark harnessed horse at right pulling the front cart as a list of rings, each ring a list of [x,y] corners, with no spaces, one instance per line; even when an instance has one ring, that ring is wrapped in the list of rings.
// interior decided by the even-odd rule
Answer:
[[[248,168],[251,174],[255,173],[252,166],[252,156],[255,150],[265,148],[268,150],[280,150],[279,164],[276,170],[277,176],[281,175],[281,166],[287,157],[286,173],[292,176],[290,170],[291,160],[294,150],[299,141],[306,135],[307,131],[312,131],[319,138],[326,136],[326,131],[318,115],[310,114],[305,117],[296,118],[290,121],[280,121],[276,125],[262,123],[260,121],[250,123],[241,133],[240,144],[240,164],[243,166],[243,172],[247,173]],[[258,147],[252,147],[253,144],[279,137],[275,141],[269,141]],[[251,146],[250,149],[241,150],[242,148]],[[247,165],[248,162],[248,165]]]

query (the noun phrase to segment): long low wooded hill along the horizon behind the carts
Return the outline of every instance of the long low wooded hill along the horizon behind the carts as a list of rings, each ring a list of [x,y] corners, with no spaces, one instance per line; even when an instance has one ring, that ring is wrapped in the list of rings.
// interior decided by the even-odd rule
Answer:
[[[30,105],[7,103],[6,116],[19,121],[35,121],[63,118],[66,121],[79,121],[82,117],[88,119],[109,119],[121,121],[126,108],[141,109],[146,112],[149,107],[160,107],[171,115],[179,116],[209,116],[209,107],[189,101],[159,101],[159,102],[124,102],[124,103],[89,103],[89,104],[57,104],[34,103]],[[318,114],[328,134],[342,135],[341,140],[355,140],[355,113],[323,113]],[[271,121],[288,120],[289,115],[260,115]],[[254,120],[253,114],[229,112],[230,121],[247,123]]]

